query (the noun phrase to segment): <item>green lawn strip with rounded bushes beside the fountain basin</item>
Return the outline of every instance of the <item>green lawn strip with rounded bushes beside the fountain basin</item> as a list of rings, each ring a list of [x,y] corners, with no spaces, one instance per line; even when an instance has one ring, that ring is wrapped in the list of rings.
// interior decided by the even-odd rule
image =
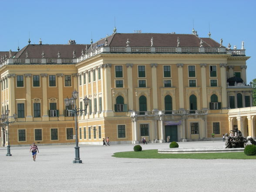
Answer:
[[[112,157],[118,158],[191,158],[191,159],[256,159],[256,155],[248,156],[244,152],[227,153],[187,153],[162,154],[157,149],[142,150],[141,152],[117,152]]]

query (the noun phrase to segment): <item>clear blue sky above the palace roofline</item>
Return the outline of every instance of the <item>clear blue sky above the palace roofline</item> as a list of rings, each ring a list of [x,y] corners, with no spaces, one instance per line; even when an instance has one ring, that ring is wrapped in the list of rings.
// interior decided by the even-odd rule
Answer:
[[[256,78],[255,0],[0,0],[0,51],[28,44],[90,44],[118,33],[192,34],[241,49],[244,41],[247,84]]]

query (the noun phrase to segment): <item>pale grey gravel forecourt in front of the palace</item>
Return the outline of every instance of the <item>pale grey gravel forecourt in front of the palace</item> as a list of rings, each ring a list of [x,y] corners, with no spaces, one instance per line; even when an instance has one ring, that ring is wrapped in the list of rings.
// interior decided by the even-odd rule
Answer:
[[[180,147],[223,146],[220,141],[184,142]],[[256,160],[114,158],[134,145],[80,145],[83,164],[73,164],[74,145],[0,148],[0,192],[255,192]],[[168,144],[142,145],[143,149]]]

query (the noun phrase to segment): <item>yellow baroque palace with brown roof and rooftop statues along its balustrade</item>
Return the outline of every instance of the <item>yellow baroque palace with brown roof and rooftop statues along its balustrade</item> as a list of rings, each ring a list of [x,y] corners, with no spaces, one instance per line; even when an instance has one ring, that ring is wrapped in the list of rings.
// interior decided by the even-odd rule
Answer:
[[[77,90],[81,144],[209,140],[233,126],[255,137],[252,86],[246,83],[245,50],[192,34],[114,33],[91,44],[29,44],[0,52],[1,114],[10,145],[73,143],[74,117],[64,99]],[[233,116],[232,116],[233,115]],[[7,128],[1,124],[2,145]]]

